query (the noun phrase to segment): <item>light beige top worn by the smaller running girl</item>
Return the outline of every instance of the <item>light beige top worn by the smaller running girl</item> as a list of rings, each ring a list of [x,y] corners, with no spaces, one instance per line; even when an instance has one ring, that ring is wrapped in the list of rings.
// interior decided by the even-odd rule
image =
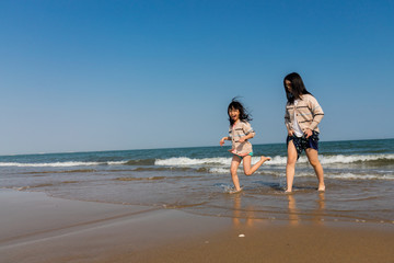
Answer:
[[[252,133],[255,134],[248,122],[239,121],[233,126],[230,126],[229,137],[232,141],[232,148],[230,152],[237,156],[247,156],[250,152],[252,152],[252,144],[248,142],[248,140],[245,140],[244,142],[239,141],[241,137]]]

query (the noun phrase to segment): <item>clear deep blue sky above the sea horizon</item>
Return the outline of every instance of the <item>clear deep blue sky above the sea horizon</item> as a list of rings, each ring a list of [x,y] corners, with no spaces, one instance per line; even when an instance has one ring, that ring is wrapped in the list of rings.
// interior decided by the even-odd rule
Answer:
[[[282,79],[322,140],[394,137],[394,1],[0,1],[0,155],[215,146],[242,96],[282,142]]]

